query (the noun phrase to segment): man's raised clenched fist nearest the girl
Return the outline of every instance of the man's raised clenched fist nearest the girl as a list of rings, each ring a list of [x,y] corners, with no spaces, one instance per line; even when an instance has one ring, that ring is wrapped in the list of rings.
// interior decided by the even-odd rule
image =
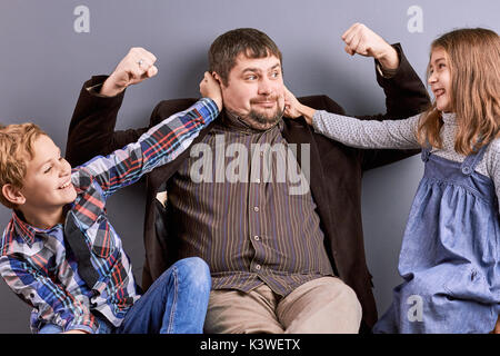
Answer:
[[[352,24],[342,34],[342,40],[346,42],[346,52],[351,56],[358,53],[373,57],[384,69],[398,69],[399,67],[396,49],[362,23]]]

